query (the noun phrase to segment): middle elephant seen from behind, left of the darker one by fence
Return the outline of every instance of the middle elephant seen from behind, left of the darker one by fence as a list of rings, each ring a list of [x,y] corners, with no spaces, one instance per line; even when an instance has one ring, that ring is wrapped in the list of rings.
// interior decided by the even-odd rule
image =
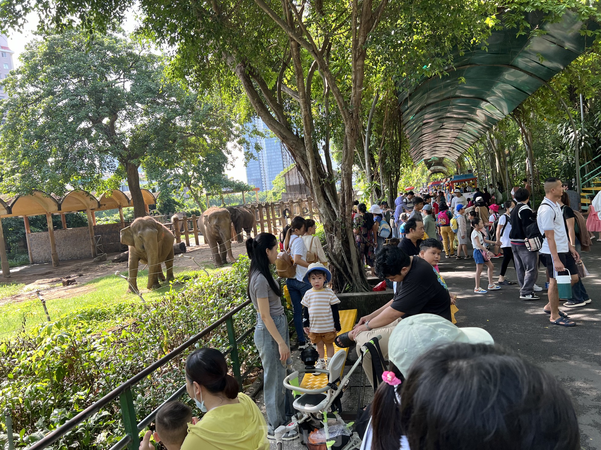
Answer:
[[[227,264],[227,256],[233,262],[231,253],[231,215],[225,208],[207,209],[198,218],[198,229],[203,233],[204,242],[209,244],[216,266]]]

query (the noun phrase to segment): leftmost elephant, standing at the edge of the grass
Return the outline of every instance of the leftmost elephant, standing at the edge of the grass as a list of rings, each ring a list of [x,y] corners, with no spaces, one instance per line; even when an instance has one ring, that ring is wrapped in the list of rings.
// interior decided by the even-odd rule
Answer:
[[[159,279],[165,280],[160,267],[165,263],[167,281],[173,280],[173,233],[152,217],[138,217],[129,227],[121,230],[121,244],[129,247],[128,291],[137,291],[138,263],[148,264],[148,289],[160,287]]]

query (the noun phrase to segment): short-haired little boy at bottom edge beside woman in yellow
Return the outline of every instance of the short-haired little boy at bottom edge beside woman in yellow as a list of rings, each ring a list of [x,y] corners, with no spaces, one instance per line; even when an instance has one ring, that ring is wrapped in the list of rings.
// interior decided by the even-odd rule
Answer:
[[[167,450],[180,450],[188,436],[188,422],[192,422],[192,410],[181,401],[169,401],[161,407],[154,418],[156,431],[147,431],[140,444],[140,450],[154,450],[150,443],[152,434],[156,442],[162,442]]]

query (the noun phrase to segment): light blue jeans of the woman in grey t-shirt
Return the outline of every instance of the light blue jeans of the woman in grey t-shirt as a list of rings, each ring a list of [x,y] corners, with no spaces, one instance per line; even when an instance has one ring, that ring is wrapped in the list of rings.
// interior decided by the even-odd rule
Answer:
[[[279,334],[288,347],[290,337],[288,335],[288,321],[285,314],[271,316],[273,323],[278,328]],[[267,431],[273,434],[273,430],[279,425],[286,425],[287,415],[291,413],[291,391],[284,388],[286,368],[279,361],[278,343],[273,339],[269,330],[265,328],[260,314],[257,314],[257,326],[255,327],[255,345],[263,364],[263,395],[267,411]],[[292,358],[288,358],[287,364],[292,364]]]

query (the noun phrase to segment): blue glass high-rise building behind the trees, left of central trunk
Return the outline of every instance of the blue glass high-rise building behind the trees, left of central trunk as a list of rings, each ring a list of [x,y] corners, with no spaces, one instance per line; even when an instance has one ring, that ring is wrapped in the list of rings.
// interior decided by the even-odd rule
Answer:
[[[257,130],[270,134],[269,128],[261,119],[253,119],[252,124]],[[261,191],[268,191],[273,187],[273,179],[293,162],[292,158],[277,137],[246,136],[246,139],[251,143],[251,152],[257,158],[246,164],[246,182]],[[257,143],[261,148],[258,152],[254,149]]]

